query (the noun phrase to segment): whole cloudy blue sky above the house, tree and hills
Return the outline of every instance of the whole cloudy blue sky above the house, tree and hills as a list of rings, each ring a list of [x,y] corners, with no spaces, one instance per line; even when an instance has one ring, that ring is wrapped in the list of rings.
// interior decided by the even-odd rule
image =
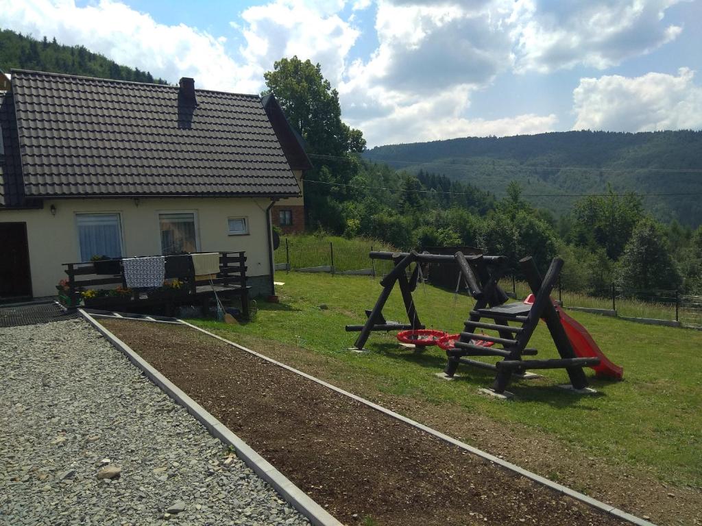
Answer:
[[[369,145],[702,128],[702,0],[0,0],[0,27],[257,93],[322,65]]]

